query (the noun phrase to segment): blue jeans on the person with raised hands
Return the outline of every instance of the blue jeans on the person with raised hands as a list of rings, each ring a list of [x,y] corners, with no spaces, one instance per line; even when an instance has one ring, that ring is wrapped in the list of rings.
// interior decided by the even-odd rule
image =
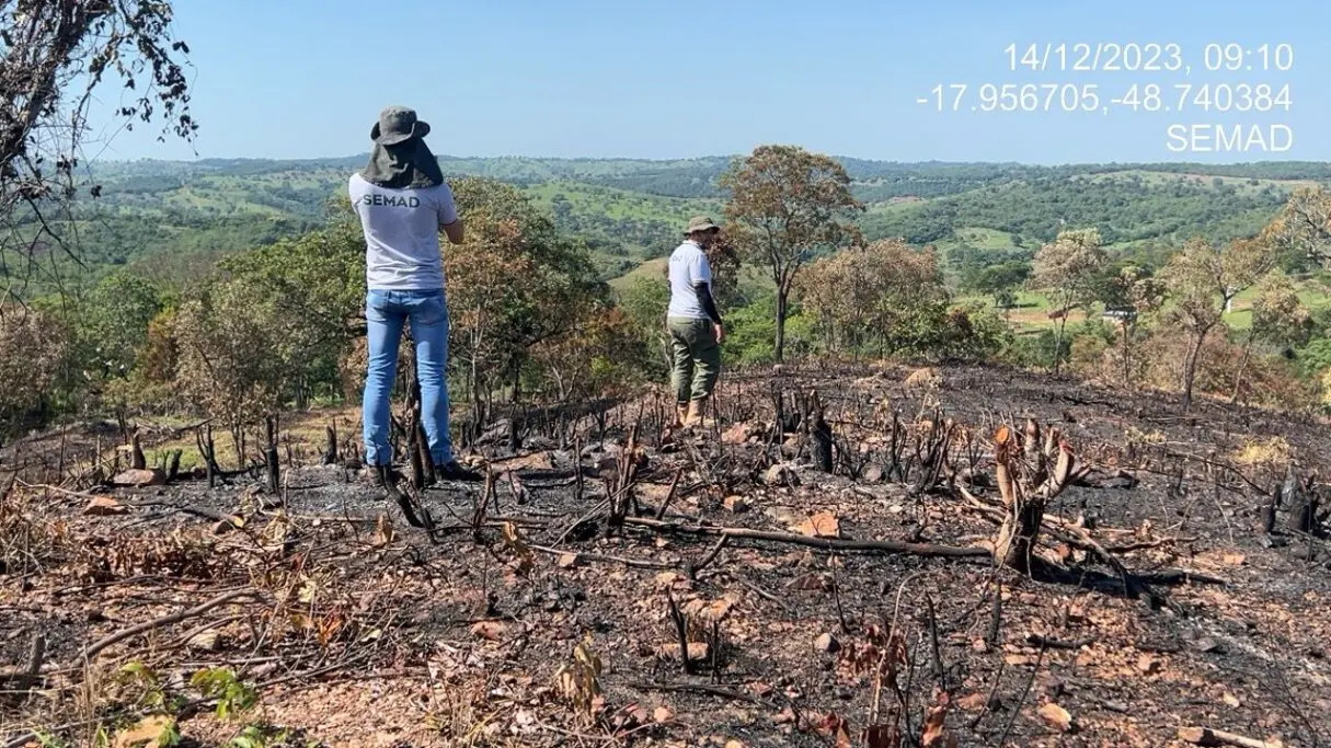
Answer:
[[[435,465],[453,459],[449,437],[449,307],[443,289],[419,291],[374,290],[365,298],[370,362],[365,375],[365,462],[390,465],[389,394],[398,370],[402,327],[411,321],[417,378],[421,381],[421,421]]]

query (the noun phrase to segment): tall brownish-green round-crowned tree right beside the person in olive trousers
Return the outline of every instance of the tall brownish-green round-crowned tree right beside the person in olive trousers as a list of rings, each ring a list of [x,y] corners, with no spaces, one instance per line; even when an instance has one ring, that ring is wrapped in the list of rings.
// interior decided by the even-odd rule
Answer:
[[[785,353],[791,290],[807,262],[858,244],[864,210],[837,161],[792,145],[760,145],[720,176],[729,193],[723,233],[740,257],[768,269],[776,290],[773,355]]]

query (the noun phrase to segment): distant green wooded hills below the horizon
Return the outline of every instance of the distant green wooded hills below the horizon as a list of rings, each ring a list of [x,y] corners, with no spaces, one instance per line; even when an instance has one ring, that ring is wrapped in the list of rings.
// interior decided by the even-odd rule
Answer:
[[[591,245],[606,277],[660,257],[688,216],[719,217],[716,177],[729,157],[675,161],[442,156],[450,177],[522,186]],[[363,156],[318,160],[97,164],[100,198],[79,210],[95,269],[134,264],[188,278],[220,254],[318,226]],[[1255,232],[1303,184],[1331,182],[1331,164],[886,162],[841,158],[870,238],[940,248],[1032,250],[1063,225],[1094,225],[1115,246]]]

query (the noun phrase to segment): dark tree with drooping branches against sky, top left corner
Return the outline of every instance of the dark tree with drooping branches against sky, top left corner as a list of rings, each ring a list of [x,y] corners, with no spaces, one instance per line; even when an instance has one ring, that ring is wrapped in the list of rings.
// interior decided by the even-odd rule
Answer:
[[[0,274],[9,294],[21,287],[13,281],[80,253],[60,224],[73,224],[80,145],[108,77],[128,92],[116,108],[128,129],[161,117],[165,132],[193,136],[189,51],[170,21],[165,0],[0,1]]]

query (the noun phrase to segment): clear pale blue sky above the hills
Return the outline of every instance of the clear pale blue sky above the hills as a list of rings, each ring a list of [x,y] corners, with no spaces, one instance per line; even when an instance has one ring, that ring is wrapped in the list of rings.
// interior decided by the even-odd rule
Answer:
[[[192,49],[192,149],[120,132],[102,158],[350,156],[383,105],[417,108],[437,153],[673,158],[764,142],[897,161],[1331,160],[1331,9],[1320,0],[174,0]],[[382,9],[381,9],[382,8]],[[1178,44],[1183,72],[1012,71],[1005,48]],[[1206,73],[1207,44],[1251,51]],[[1259,67],[1288,44],[1291,71]],[[1102,48],[1103,49],[1103,48]],[[1054,55],[1057,59],[1057,53]],[[1162,56],[1163,60],[1163,56]],[[965,84],[958,112],[936,85]],[[1085,85],[1102,104],[1157,84],[1187,112],[972,112],[984,84]],[[1290,110],[1205,112],[1203,84],[1288,85]],[[1222,85],[1222,88],[1223,88]],[[946,106],[956,89],[946,89]],[[1001,88],[994,88],[1001,92]],[[1037,89],[1042,101],[1047,89]],[[1063,89],[1058,89],[1061,93]],[[1219,101],[1225,92],[1213,91]],[[104,92],[102,104],[116,104]],[[104,120],[106,128],[110,120]],[[1201,152],[1170,125],[1284,125],[1283,152]],[[106,130],[109,132],[109,129]],[[1194,130],[1187,130],[1190,134]],[[1203,130],[1205,132],[1205,130]],[[1244,134],[1247,134],[1244,129]],[[1244,138],[1247,140],[1247,138]],[[1205,145],[1205,141],[1201,142]],[[1255,142],[1254,142],[1255,145]]]

